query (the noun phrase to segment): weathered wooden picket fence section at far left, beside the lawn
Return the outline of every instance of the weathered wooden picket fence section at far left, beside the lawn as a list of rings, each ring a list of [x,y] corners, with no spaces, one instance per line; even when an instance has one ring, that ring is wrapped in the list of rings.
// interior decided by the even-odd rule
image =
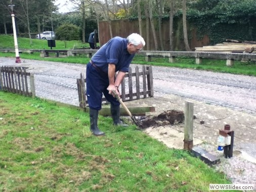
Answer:
[[[35,97],[34,75],[26,67],[0,67],[0,90]],[[28,84],[30,82],[30,87]]]

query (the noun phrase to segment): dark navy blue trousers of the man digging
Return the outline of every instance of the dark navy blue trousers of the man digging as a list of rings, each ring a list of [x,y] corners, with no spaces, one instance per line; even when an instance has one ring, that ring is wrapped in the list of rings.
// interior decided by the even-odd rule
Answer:
[[[120,105],[118,100],[114,98],[112,94],[108,94],[108,85],[108,74],[100,71],[89,62],[86,69],[86,95],[90,109],[101,110],[103,94],[106,100],[112,105]]]

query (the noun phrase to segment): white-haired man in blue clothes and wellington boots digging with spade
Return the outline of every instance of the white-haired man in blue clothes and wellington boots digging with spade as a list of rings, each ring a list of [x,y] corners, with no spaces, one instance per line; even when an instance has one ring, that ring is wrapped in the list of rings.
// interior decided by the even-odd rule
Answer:
[[[95,53],[87,64],[86,94],[90,108],[90,129],[94,135],[105,134],[98,128],[98,114],[102,107],[103,94],[110,102],[113,124],[127,126],[120,120],[120,103],[112,90],[120,96],[118,87],[125,73],[129,71],[135,54],[141,51],[145,44],[143,37],[137,33],[132,33],[127,38],[113,37]]]

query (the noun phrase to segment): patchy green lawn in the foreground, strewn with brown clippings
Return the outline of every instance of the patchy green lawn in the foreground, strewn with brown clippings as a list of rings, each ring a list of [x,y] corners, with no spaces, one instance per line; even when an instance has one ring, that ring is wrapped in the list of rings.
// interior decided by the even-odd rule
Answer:
[[[183,150],[168,149],[134,125],[0,91],[1,191],[208,191],[230,183]]]

